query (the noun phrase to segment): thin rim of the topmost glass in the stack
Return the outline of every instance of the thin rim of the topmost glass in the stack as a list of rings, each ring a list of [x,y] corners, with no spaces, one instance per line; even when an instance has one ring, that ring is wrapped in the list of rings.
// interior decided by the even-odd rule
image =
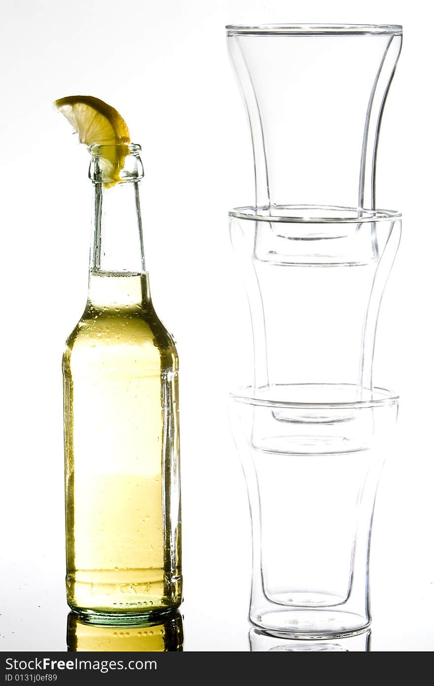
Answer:
[[[228,36],[402,36],[400,24],[228,24]]]

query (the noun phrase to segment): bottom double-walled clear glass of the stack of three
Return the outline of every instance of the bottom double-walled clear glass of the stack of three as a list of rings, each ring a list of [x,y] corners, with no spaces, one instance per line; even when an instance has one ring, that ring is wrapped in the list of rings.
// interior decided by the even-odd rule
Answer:
[[[370,626],[378,479],[398,397],[357,384],[276,384],[230,396],[252,519],[250,621],[328,639]]]

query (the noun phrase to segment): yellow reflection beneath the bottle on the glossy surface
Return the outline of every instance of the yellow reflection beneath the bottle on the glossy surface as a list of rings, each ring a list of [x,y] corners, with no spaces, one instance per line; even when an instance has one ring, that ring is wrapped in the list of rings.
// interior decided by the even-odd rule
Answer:
[[[88,624],[73,612],[68,615],[67,650],[77,652],[182,651],[182,617],[179,612],[142,624]]]

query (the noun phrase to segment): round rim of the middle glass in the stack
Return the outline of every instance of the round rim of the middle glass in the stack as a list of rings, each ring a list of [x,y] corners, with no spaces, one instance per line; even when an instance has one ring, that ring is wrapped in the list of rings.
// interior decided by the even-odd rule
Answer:
[[[234,207],[230,210],[230,217],[250,220],[252,222],[277,222],[287,224],[363,224],[376,222],[390,222],[400,220],[402,214],[395,210],[361,209],[357,207],[343,207],[339,205],[274,205],[271,209],[285,211],[318,211],[317,216],[297,216],[296,214],[267,214],[269,206]],[[324,210],[337,212],[337,216],[325,216]]]

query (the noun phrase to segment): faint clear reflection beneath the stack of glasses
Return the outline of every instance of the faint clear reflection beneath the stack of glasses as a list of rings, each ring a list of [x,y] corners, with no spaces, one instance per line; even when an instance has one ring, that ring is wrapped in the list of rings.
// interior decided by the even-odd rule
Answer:
[[[371,650],[370,630],[344,639],[304,641],[272,636],[260,629],[251,628],[249,641],[251,652],[370,652]]]

